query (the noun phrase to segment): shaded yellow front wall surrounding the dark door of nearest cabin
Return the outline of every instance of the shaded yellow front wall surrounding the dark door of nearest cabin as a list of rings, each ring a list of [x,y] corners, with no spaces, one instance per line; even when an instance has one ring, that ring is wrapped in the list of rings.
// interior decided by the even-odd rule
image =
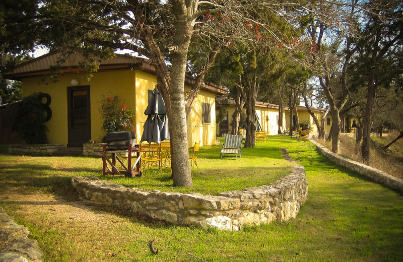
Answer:
[[[102,96],[118,95],[124,99],[127,108],[135,109],[133,86],[135,74],[131,71],[114,71],[94,73],[90,81],[82,79],[82,74],[66,74],[59,76],[57,83],[41,83],[41,77],[23,79],[24,96],[34,92],[48,93],[51,96],[52,118],[46,123],[49,132],[49,143],[68,144],[68,87],[72,86],[72,79],[79,80],[79,86],[90,86],[91,101],[91,140],[101,141],[104,136],[101,130],[102,120],[99,115]]]

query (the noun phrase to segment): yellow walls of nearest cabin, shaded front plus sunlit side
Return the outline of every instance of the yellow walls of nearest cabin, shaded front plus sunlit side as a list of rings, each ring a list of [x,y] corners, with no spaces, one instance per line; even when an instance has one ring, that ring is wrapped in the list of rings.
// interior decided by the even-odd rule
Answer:
[[[141,71],[110,71],[94,73],[90,81],[82,79],[81,74],[66,74],[58,77],[57,83],[41,83],[41,77],[23,79],[24,96],[34,92],[48,93],[51,96],[50,108],[52,118],[46,123],[49,132],[49,143],[68,144],[68,87],[72,86],[72,79],[80,81],[79,86],[90,86],[91,100],[91,140],[100,142],[105,135],[102,119],[99,115],[102,96],[118,95],[125,101],[127,108],[135,113],[135,127],[137,143],[140,143],[143,134],[144,122],[147,116],[144,111],[148,105],[148,90],[154,90],[157,77]],[[189,89],[189,87],[187,87]],[[211,104],[211,123],[201,122],[201,102]],[[216,141],[215,94],[201,90],[194,103],[188,119],[188,145],[193,146],[196,141],[201,145],[213,145]]]

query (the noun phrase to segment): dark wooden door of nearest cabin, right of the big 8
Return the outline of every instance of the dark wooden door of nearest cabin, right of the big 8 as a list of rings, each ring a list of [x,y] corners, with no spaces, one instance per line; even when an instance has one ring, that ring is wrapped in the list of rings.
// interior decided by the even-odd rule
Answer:
[[[68,87],[69,147],[91,140],[90,86]]]

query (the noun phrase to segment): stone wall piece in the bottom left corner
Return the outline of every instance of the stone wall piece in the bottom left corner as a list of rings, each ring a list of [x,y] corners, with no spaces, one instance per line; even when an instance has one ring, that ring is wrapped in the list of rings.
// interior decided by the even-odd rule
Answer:
[[[38,242],[28,238],[28,229],[17,225],[0,207],[0,261],[42,262]]]

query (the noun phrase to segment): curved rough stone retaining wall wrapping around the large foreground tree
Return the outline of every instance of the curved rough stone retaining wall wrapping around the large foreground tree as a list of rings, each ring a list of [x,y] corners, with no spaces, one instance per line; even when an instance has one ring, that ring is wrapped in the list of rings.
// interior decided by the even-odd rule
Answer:
[[[93,176],[73,177],[72,184],[92,201],[137,214],[173,224],[235,231],[245,225],[295,218],[308,199],[304,168],[295,163],[293,173],[279,181],[219,195],[127,188]]]

